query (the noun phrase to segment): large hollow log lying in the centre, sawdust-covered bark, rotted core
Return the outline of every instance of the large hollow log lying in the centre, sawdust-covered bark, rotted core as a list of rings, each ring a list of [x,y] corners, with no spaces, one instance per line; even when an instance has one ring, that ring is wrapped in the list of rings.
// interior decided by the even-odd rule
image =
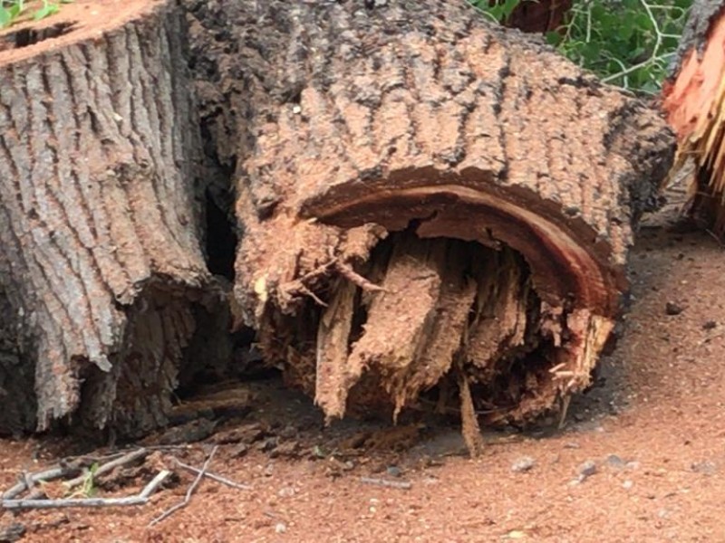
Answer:
[[[656,113],[463,1],[187,5],[237,319],[288,382],[328,419],[458,388],[508,423],[589,384],[672,158]]]

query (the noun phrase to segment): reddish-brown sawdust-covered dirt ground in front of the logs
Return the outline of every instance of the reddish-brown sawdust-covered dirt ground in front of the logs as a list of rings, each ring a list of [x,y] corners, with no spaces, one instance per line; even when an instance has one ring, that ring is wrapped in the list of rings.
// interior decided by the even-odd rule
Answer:
[[[412,414],[393,431],[365,422],[324,430],[308,400],[274,381],[257,382],[246,385],[252,413],[225,424],[245,431],[232,439],[222,430],[238,443],[220,445],[209,468],[251,490],[202,481],[186,509],[147,528],[183,498],[192,476],[181,472],[144,507],[14,519],[5,512],[0,527],[22,523],[24,541],[109,543],[725,541],[725,251],[707,233],[652,223],[632,262],[623,338],[560,431],[489,433],[486,452],[469,460],[455,423]],[[667,302],[681,313],[668,314]],[[9,488],[18,473],[72,449],[2,442],[0,485]],[[130,486],[100,495],[138,491],[160,463],[172,465],[172,454],[201,466],[208,451],[197,443],[155,452]],[[524,457],[533,467],[513,471]],[[578,481],[587,461],[596,471]],[[364,476],[411,488],[363,483]]]

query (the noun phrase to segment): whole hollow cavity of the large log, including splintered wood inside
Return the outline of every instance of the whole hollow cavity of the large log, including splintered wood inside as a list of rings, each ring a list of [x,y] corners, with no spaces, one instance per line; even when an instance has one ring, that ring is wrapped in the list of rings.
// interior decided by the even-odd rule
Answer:
[[[262,341],[293,360],[288,379],[314,393],[328,421],[371,409],[397,418],[430,391],[440,408],[460,410],[477,449],[478,415],[500,423],[540,413],[575,377],[565,311],[539,298],[518,252],[492,245],[421,238],[415,227],[391,233],[354,270],[322,266],[319,297],[297,317],[275,316],[296,324],[269,327],[294,337]],[[456,388],[459,398],[447,394]]]

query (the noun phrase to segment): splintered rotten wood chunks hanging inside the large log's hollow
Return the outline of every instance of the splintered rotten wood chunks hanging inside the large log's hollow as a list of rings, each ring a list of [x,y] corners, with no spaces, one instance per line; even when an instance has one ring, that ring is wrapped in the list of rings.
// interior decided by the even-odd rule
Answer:
[[[410,232],[382,245],[371,271],[380,289],[365,291],[344,277],[335,283],[317,333],[315,401],[328,420],[342,417],[351,389],[370,372],[397,417],[420,393],[452,378],[467,443],[478,451],[470,386],[489,384],[499,360],[536,346],[527,345],[527,329],[536,324],[527,315],[538,303],[527,266],[507,248]]]

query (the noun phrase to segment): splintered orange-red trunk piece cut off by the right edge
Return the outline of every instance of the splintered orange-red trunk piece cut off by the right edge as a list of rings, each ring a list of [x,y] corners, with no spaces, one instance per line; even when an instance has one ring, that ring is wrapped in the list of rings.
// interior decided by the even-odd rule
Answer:
[[[693,166],[687,210],[725,236],[725,2],[695,0],[663,106],[680,146],[674,173]]]

